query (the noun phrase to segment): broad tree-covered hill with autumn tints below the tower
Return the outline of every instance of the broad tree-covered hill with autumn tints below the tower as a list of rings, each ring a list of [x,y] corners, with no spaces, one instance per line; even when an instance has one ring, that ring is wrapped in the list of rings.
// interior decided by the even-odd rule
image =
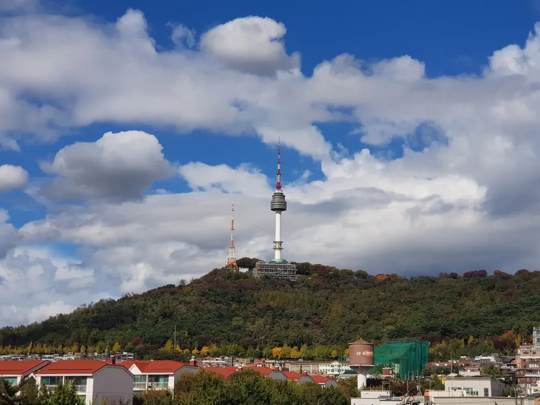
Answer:
[[[187,284],[102,300],[29,326],[4,327],[0,345],[103,349],[105,342],[123,342],[123,348],[129,342],[127,349],[133,349],[130,345],[141,340],[161,347],[176,326],[177,343],[190,350],[228,342],[246,349],[346,347],[359,337],[489,340],[507,330],[526,336],[540,325],[540,272],[405,279],[306,263],[298,267],[306,275],[296,282],[214,269]]]

